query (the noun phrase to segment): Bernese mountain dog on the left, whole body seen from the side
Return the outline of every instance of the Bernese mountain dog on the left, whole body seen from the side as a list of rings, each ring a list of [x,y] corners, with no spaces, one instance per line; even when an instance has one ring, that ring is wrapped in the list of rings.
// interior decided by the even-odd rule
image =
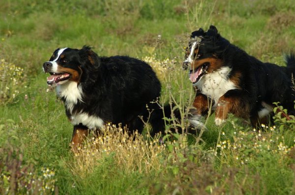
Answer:
[[[164,111],[157,103],[161,84],[144,61],[129,56],[100,57],[89,46],[82,49],[57,49],[43,64],[50,73],[47,84],[56,86],[58,97],[74,125],[71,145],[75,148],[89,134],[101,131],[108,123],[121,124],[128,131],[141,133],[144,122],[152,127],[151,135],[164,132],[170,105]],[[189,125],[199,124],[197,115],[187,117]]]

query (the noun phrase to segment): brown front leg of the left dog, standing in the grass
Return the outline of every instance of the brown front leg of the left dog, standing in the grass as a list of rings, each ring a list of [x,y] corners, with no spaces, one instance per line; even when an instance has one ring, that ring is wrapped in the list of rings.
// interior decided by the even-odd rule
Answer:
[[[78,147],[82,145],[82,142],[89,134],[89,129],[84,125],[75,125],[72,135],[70,146],[72,150],[77,151]]]

